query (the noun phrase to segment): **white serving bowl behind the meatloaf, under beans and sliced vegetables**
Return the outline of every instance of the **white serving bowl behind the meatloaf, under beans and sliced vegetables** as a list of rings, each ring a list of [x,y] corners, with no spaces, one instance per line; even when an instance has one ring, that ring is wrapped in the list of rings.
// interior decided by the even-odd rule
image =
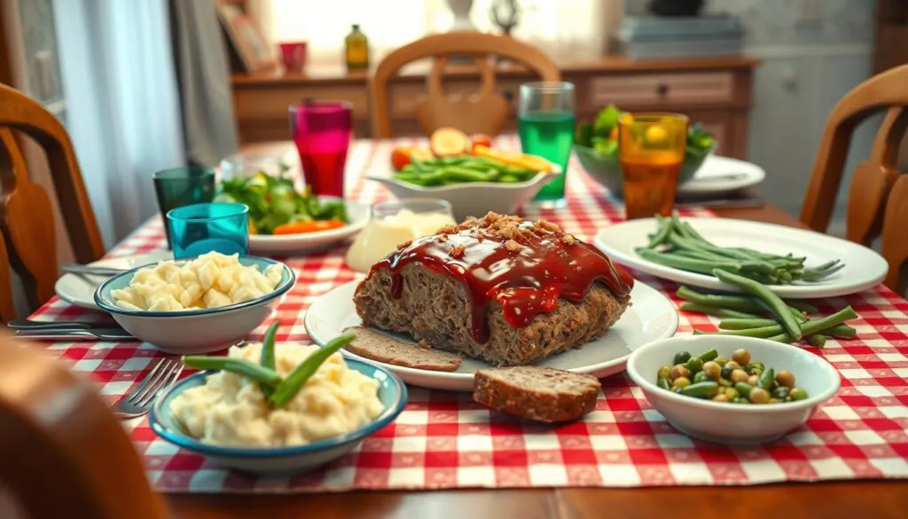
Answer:
[[[502,215],[514,214],[522,205],[532,200],[543,185],[558,175],[561,175],[561,168],[558,165],[551,165],[551,171],[515,178],[519,180],[517,182],[463,180],[443,185],[417,185],[401,180],[400,175],[398,177],[370,175],[368,178],[380,182],[398,198],[430,197],[447,200],[454,218],[461,221],[467,216],[482,216],[489,211]]]

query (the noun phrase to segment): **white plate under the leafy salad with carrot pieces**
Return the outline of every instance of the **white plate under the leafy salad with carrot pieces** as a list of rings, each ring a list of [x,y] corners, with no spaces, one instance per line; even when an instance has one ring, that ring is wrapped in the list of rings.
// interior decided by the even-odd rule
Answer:
[[[349,224],[337,229],[301,235],[250,235],[249,252],[255,255],[310,254],[323,251],[359,233],[369,222],[369,205],[347,202]]]

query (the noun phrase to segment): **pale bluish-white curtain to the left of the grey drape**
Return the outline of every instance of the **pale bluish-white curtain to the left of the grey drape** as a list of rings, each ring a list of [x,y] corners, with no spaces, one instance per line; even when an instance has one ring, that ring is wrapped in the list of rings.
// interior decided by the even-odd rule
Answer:
[[[108,246],[157,211],[185,164],[166,0],[55,0],[67,130]]]

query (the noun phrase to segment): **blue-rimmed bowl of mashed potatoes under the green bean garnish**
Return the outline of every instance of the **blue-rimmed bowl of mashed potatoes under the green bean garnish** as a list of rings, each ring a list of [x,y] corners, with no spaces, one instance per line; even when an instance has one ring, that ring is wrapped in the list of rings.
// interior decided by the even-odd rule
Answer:
[[[276,344],[275,371],[286,377],[316,345]],[[258,362],[262,344],[230,349]],[[407,387],[385,368],[332,354],[291,401],[272,408],[242,374],[203,371],[173,384],[149,414],[155,434],[215,463],[258,474],[304,472],[349,453],[390,424]]]

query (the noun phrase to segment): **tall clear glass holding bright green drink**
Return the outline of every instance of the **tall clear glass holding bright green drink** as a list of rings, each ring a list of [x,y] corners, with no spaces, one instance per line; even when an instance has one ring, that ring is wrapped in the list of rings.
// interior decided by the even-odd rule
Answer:
[[[539,155],[561,166],[561,174],[543,185],[534,198],[547,208],[565,205],[565,179],[574,144],[574,85],[562,81],[539,81],[520,85],[518,134],[523,153]]]

